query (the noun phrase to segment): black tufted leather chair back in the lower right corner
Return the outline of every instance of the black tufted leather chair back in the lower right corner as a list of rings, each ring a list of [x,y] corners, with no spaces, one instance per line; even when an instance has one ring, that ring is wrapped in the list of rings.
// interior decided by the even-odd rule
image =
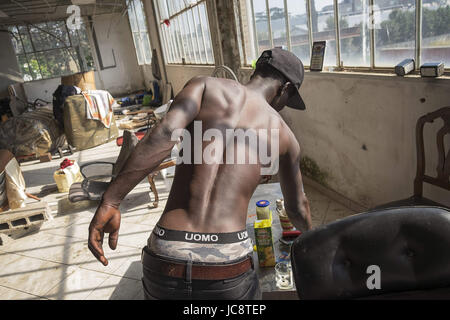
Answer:
[[[401,207],[350,216],[298,237],[300,299],[450,299],[450,211]],[[367,286],[380,268],[380,289]]]

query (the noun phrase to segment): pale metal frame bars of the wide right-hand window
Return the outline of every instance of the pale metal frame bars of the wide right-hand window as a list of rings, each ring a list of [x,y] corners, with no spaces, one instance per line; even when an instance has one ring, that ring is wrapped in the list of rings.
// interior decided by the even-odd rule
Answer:
[[[235,1],[243,1],[243,0],[235,0]],[[307,26],[308,26],[308,36],[309,36],[309,50],[311,52],[312,49],[312,44],[314,41],[314,37],[313,37],[313,30],[312,30],[312,12],[311,12],[311,0],[304,0],[305,4],[306,4],[306,15],[307,15]],[[364,1],[364,0],[363,0]],[[342,66],[341,65],[341,42],[342,39],[340,37],[340,26],[339,26],[339,20],[341,18],[340,14],[339,14],[339,4],[338,4],[338,0],[333,0],[333,16],[334,16],[334,28],[335,28],[335,32],[336,32],[336,41],[335,41],[335,46],[336,46],[336,63],[334,65],[331,66],[327,66],[327,67],[332,67],[334,68],[334,70],[336,71],[372,71],[372,72],[376,72],[376,73],[382,73],[382,72],[393,72],[395,69],[395,66],[392,67],[381,67],[381,66],[376,66],[375,64],[375,28],[369,28],[369,54],[370,54],[370,63],[369,66]],[[374,0],[368,0],[368,15],[366,16],[366,18],[368,19],[368,21],[366,22],[368,25],[372,24],[372,26],[374,25]],[[254,12],[254,4],[253,4],[253,0],[250,0],[250,4],[251,4],[251,9],[249,10],[249,13],[252,14],[252,21],[255,24],[255,12]],[[270,3],[269,0],[265,0],[265,4],[266,4],[266,17],[267,17],[267,23],[268,23],[268,32],[269,32],[269,42],[271,44],[271,46],[273,47],[273,34],[272,34],[272,28],[271,28],[271,16],[270,16]],[[239,8],[240,5],[238,4]],[[289,7],[288,7],[288,2],[287,0],[284,0],[284,15],[285,15],[285,21],[286,21],[286,37],[287,37],[287,48],[289,51],[291,51],[291,36],[290,36],[290,19],[289,19]],[[423,0],[415,0],[415,47],[414,47],[414,60],[415,60],[415,70],[414,73],[418,73],[420,71],[420,66],[422,64],[421,60],[421,50],[422,50],[422,11],[423,11]],[[240,21],[242,21],[242,19],[244,17],[242,17],[241,13],[239,13],[240,15]],[[241,34],[243,32],[245,32],[245,30],[242,30],[242,24],[239,23],[238,26],[239,28],[241,28]],[[256,33],[256,27],[253,27],[253,32]],[[256,47],[256,52],[259,52],[259,48],[258,48],[258,40],[256,37],[256,34],[253,35],[255,41],[253,44],[253,46]],[[242,50],[243,50],[243,54],[244,57],[247,57],[248,54],[246,52],[246,46],[242,45]],[[241,59],[242,60],[242,59]],[[243,67],[249,67],[250,65],[248,64],[248,62],[246,60],[243,60],[244,64],[242,65]],[[309,69],[309,61],[307,63],[305,63],[305,69]],[[345,63],[345,61],[344,61]],[[445,66],[445,72],[448,73],[450,72],[450,65],[446,65]]]

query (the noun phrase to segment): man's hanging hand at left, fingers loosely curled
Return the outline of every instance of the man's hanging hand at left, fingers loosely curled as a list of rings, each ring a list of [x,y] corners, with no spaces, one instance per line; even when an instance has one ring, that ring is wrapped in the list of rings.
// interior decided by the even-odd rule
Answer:
[[[89,225],[88,247],[92,254],[104,266],[108,260],[103,252],[103,237],[109,233],[109,247],[115,250],[119,239],[120,211],[116,206],[101,203]]]

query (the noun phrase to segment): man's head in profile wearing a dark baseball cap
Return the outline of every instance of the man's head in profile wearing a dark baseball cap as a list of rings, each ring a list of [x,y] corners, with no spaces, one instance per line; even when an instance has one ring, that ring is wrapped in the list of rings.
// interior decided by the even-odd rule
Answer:
[[[270,105],[277,111],[285,106],[304,110],[305,104],[298,89],[303,82],[303,63],[293,53],[281,48],[264,51],[256,62],[256,76],[275,80],[276,96]]]

